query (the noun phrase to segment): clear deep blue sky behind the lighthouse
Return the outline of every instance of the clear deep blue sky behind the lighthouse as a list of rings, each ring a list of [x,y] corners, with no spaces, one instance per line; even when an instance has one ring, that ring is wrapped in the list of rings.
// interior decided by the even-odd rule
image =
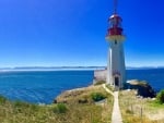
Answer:
[[[164,1],[119,0],[127,66],[164,65]],[[0,67],[106,65],[113,0],[1,0]]]

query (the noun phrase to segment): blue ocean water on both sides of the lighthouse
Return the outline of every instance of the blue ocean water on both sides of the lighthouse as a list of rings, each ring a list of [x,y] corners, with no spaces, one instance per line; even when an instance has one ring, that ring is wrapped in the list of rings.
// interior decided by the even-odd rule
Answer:
[[[94,71],[0,72],[0,95],[10,100],[51,103],[65,90],[92,84]],[[164,88],[164,69],[127,70],[127,79],[148,81],[159,91]]]

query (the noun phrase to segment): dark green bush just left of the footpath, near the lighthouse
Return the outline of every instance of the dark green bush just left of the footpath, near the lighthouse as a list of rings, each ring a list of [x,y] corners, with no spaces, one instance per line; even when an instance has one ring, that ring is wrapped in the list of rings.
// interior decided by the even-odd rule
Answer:
[[[94,101],[101,101],[101,100],[103,100],[103,99],[106,98],[106,96],[103,95],[102,93],[93,93],[93,94],[91,95],[91,97],[92,97],[92,99],[93,99]]]

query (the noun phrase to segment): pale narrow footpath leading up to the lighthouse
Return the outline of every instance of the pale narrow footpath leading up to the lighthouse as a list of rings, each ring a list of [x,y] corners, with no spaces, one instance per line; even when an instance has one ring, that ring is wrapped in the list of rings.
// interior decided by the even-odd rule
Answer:
[[[119,103],[118,103],[118,91],[113,93],[109,90],[105,84],[103,84],[104,89],[114,96],[114,108],[113,108],[113,114],[112,114],[112,123],[122,123],[121,113],[119,110]]]

